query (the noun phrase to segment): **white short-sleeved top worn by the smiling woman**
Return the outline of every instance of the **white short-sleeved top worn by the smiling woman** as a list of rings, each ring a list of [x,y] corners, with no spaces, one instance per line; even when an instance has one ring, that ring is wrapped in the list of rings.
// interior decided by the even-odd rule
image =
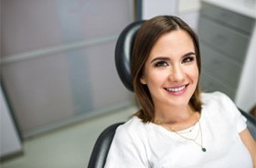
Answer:
[[[118,127],[105,167],[251,168],[250,152],[239,135],[246,128],[240,111],[220,92],[203,93],[202,100],[204,105],[199,122],[191,132],[182,135],[195,137],[200,124],[202,146],[206,152],[176,132],[133,117]],[[197,143],[201,143],[200,135]]]

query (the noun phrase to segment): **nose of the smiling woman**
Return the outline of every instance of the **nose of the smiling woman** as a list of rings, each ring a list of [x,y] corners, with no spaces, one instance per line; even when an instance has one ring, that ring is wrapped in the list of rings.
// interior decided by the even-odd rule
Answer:
[[[169,79],[172,82],[182,82],[185,79],[185,73],[180,65],[176,65],[171,69]]]

